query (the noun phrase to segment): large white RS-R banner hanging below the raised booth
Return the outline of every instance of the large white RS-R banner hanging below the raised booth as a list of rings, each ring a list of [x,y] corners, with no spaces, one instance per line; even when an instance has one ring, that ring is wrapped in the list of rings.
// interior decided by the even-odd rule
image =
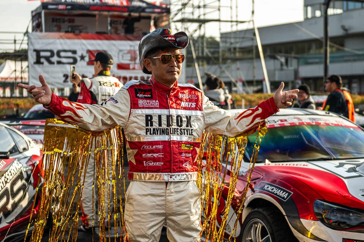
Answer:
[[[138,44],[141,37],[73,33],[28,33],[29,85],[39,85],[43,74],[51,88],[71,87],[70,65],[82,77],[94,74],[95,54],[107,51],[114,59],[111,76],[122,83],[149,80],[139,65]]]

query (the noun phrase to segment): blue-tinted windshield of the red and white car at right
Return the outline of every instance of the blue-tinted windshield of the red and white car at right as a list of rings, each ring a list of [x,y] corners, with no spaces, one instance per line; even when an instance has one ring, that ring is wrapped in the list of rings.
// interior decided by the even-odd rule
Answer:
[[[250,157],[256,133],[248,136]],[[333,160],[364,157],[364,131],[356,126],[292,125],[269,128],[256,162]],[[250,159],[249,159],[250,160]]]

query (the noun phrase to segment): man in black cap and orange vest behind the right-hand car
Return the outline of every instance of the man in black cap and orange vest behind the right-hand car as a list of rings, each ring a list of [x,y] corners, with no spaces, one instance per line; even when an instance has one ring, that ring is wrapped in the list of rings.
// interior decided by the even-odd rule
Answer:
[[[347,90],[343,90],[343,82],[338,75],[330,75],[325,83],[325,91],[329,92],[322,107],[317,109],[331,111],[343,115],[355,122],[354,104]]]

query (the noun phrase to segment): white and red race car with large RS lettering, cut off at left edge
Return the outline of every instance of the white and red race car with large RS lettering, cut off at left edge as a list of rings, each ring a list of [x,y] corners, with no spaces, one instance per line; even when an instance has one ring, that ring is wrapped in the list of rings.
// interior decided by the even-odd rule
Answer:
[[[2,123],[0,137],[0,241],[23,241],[39,208],[43,153],[31,138]]]

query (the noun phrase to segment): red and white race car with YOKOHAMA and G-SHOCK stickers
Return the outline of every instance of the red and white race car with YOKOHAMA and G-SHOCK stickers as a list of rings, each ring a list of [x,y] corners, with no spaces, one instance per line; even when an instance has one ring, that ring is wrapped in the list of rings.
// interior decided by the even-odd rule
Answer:
[[[226,241],[232,235],[240,242],[364,242],[363,128],[335,113],[295,108],[269,117],[267,128],[238,215],[257,133],[248,136]],[[218,224],[229,178],[227,172]]]

